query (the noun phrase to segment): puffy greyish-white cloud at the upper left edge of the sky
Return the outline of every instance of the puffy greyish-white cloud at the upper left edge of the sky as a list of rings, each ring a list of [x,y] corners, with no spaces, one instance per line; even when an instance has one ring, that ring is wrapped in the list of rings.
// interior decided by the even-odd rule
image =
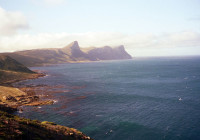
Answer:
[[[0,36],[13,35],[19,29],[29,27],[25,16],[20,12],[6,11],[0,7]]]

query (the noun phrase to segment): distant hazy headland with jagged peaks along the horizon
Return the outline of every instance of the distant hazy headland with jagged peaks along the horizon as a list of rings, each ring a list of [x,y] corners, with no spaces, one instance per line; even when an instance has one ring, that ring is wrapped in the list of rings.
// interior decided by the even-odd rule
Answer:
[[[115,48],[110,46],[80,48],[77,41],[64,48],[34,49],[3,54],[12,57],[25,66],[132,59],[131,55],[125,51],[123,45]]]

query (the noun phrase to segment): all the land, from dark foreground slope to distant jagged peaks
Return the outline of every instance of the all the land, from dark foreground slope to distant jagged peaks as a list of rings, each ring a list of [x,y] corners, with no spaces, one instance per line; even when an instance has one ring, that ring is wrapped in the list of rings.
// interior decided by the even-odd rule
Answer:
[[[91,139],[82,132],[57,125],[53,122],[36,121],[20,118],[8,113],[23,112],[24,106],[40,107],[52,105],[55,100],[40,98],[44,93],[36,89],[62,89],[55,86],[23,86],[14,87],[13,83],[35,79],[45,76],[40,71],[32,71],[26,66],[44,66],[59,63],[80,63],[100,60],[131,59],[132,57],[121,45],[116,48],[105,46],[103,48],[80,49],[78,42],[74,41],[64,48],[37,49],[0,54],[0,138],[2,139]],[[51,91],[56,93],[58,91]],[[66,92],[60,90],[59,92]],[[46,93],[49,94],[49,93]],[[80,97],[85,98],[83,96]]]

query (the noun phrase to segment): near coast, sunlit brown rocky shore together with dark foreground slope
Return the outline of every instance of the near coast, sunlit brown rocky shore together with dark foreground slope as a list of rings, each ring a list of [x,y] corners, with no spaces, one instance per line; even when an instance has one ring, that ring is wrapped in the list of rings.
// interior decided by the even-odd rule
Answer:
[[[54,103],[54,100],[41,99],[33,90],[30,90],[30,87],[17,88],[12,85],[19,81],[37,79],[45,76],[47,76],[47,74],[37,73],[32,75],[32,77],[15,79],[0,84],[0,139],[30,138],[52,140],[59,138],[70,140],[92,140],[92,138],[74,128],[57,125],[53,122],[41,122],[12,115],[12,113],[18,110],[23,112],[20,108],[21,106],[41,106]],[[7,94],[6,96],[2,96],[1,93],[5,91],[12,96]]]

